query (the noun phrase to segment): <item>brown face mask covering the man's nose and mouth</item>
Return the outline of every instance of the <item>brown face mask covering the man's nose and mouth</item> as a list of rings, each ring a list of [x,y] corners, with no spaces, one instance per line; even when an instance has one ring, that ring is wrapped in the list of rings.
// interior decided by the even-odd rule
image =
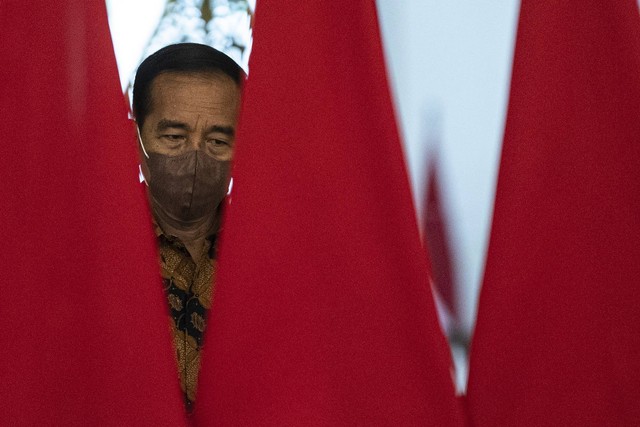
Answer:
[[[149,153],[147,166],[153,201],[175,221],[213,217],[227,194],[230,162],[215,160],[200,150],[179,156]]]

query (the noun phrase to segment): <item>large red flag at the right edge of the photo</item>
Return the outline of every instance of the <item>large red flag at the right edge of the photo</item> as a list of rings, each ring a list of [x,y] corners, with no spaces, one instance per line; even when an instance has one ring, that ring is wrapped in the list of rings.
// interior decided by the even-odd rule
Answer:
[[[640,15],[524,0],[471,351],[476,426],[640,425]]]

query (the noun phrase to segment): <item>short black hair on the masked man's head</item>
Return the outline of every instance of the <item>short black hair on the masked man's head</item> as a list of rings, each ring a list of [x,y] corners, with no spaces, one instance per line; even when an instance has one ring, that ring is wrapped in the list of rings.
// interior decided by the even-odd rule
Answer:
[[[177,73],[224,73],[240,85],[245,78],[242,68],[224,53],[199,43],[165,46],[148,56],[136,72],[133,83],[133,115],[142,124],[151,108],[151,83],[158,75]]]

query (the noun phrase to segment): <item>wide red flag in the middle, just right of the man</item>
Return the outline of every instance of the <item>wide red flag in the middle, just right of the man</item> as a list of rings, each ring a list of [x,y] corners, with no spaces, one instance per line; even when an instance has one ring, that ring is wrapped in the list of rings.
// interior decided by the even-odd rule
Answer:
[[[375,4],[259,4],[198,425],[460,426]]]

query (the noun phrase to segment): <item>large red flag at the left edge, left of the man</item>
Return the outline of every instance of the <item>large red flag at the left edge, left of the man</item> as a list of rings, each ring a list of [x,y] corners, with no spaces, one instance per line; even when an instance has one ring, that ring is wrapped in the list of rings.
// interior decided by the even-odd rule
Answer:
[[[184,423],[102,2],[2,2],[2,425]]]

